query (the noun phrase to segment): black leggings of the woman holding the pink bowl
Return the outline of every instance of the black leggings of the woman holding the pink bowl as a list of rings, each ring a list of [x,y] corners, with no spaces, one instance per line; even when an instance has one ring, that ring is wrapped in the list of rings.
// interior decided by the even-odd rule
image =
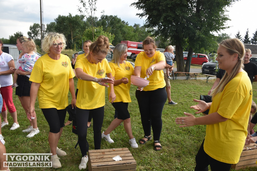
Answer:
[[[160,140],[162,129],[162,109],[167,100],[165,87],[151,91],[136,90],[141,122],[146,136],[151,135],[153,129],[153,139]]]

